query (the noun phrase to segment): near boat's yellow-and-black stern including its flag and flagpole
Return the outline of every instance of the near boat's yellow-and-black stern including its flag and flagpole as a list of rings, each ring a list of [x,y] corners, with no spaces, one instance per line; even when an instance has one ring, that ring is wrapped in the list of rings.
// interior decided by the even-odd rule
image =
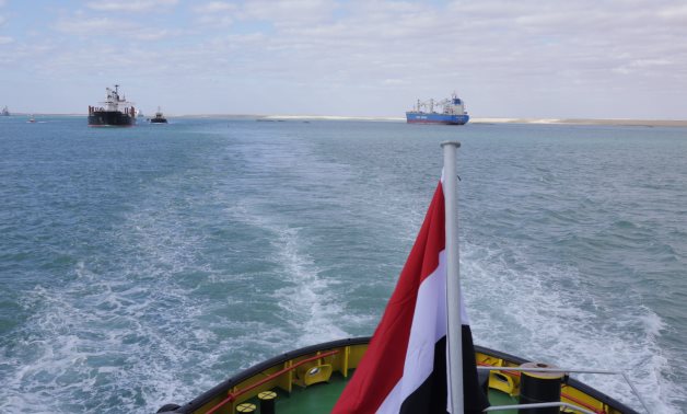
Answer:
[[[459,143],[442,146],[455,162]],[[452,219],[457,174],[449,165],[372,337],[282,354],[158,413],[445,413],[450,404],[453,413],[638,414],[571,373],[619,375],[649,412],[624,372],[559,368],[473,345]]]

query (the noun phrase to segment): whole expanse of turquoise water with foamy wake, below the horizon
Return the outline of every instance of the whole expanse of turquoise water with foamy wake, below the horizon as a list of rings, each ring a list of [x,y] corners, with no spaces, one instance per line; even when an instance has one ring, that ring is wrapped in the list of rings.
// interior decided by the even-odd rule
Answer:
[[[476,343],[687,411],[687,129],[25,120],[0,119],[3,412],[154,412],[371,334],[447,139]]]

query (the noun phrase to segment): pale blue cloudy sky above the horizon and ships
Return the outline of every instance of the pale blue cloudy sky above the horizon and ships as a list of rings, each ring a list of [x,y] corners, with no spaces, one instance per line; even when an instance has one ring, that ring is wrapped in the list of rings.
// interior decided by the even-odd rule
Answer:
[[[0,0],[0,107],[687,119],[686,0]]]

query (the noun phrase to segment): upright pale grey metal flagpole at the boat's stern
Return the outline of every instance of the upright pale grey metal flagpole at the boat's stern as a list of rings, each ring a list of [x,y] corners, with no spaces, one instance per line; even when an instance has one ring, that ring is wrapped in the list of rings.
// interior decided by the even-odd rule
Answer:
[[[463,414],[463,341],[461,322],[461,253],[458,250],[458,141],[441,143],[444,150],[444,203],[446,209],[446,312],[449,403],[452,414]]]

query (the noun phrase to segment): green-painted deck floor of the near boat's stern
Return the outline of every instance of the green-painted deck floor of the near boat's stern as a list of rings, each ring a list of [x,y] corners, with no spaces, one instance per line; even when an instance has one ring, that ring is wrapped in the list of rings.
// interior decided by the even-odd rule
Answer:
[[[347,379],[335,373],[329,378],[329,382],[310,386],[306,389],[294,387],[291,395],[279,391],[275,412],[276,414],[329,413],[347,382]],[[252,399],[248,402],[259,407],[257,399]],[[489,390],[489,402],[491,405],[510,405],[517,404],[517,399],[500,391]],[[257,413],[259,413],[259,409]],[[499,413],[515,414],[516,410],[499,411]]]

